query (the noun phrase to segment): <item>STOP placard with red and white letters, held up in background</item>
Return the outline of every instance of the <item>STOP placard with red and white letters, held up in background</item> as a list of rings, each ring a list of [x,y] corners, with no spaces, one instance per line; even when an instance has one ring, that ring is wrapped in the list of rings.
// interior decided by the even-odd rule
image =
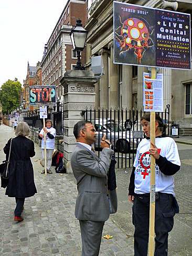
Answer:
[[[30,105],[52,105],[56,103],[56,86],[30,86]]]

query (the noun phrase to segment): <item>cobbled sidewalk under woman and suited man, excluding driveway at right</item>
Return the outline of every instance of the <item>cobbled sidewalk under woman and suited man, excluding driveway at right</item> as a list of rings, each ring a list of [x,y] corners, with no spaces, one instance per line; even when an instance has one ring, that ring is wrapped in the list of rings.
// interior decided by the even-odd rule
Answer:
[[[0,126],[0,161],[5,158],[3,147],[13,135],[11,127]],[[40,174],[40,148],[36,146],[35,151],[32,160],[38,193],[26,199],[23,222],[14,222],[15,199],[5,196],[5,189],[0,189],[0,255],[80,256],[79,222],[74,217],[77,195],[74,177],[56,174],[54,169],[53,174]],[[127,236],[111,219],[105,222],[104,234],[113,239],[102,238],[100,255],[134,254],[133,237]]]

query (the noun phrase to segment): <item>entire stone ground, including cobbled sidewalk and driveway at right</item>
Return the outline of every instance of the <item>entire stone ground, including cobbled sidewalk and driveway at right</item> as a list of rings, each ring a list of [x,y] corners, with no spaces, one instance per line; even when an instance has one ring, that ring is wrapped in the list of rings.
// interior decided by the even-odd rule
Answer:
[[[13,129],[0,126],[0,162],[5,158],[3,147]],[[180,172],[175,175],[176,196],[180,214],[175,217],[175,225],[169,234],[168,256],[192,256],[192,172],[191,146],[180,146],[182,161]],[[5,196],[0,189],[0,255],[57,255],[80,256],[81,238],[79,222],[74,217],[77,195],[72,174],[40,174],[40,148],[32,158],[35,183],[38,193],[27,198],[23,212],[24,221],[15,223],[14,198]],[[102,238],[100,256],[133,256],[132,204],[127,201],[127,186],[131,169],[116,170],[118,183],[118,212],[105,222],[103,235],[110,234],[111,240]]]

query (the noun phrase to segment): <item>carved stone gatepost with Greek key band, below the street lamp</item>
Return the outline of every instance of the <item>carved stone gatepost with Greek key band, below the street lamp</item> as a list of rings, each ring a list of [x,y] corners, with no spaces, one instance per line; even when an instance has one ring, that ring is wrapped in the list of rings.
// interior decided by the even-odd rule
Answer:
[[[95,108],[95,86],[97,78],[92,71],[68,70],[61,79],[64,87],[63,101],[63,162],[67,173],[72,173],[71,155],[76,146],[73,127],[84,119],[83,111]]]

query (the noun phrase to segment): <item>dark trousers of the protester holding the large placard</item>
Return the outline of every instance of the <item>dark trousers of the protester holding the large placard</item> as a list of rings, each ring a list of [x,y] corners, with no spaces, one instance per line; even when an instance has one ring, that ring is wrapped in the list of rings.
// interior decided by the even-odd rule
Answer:
[[[156,193],[154,256],[167,256],[168,232],[173,229],[174,215],[173,196]],[[149,224],[150,194],[135,195],[133,203],[134,256],[147,256]]]

